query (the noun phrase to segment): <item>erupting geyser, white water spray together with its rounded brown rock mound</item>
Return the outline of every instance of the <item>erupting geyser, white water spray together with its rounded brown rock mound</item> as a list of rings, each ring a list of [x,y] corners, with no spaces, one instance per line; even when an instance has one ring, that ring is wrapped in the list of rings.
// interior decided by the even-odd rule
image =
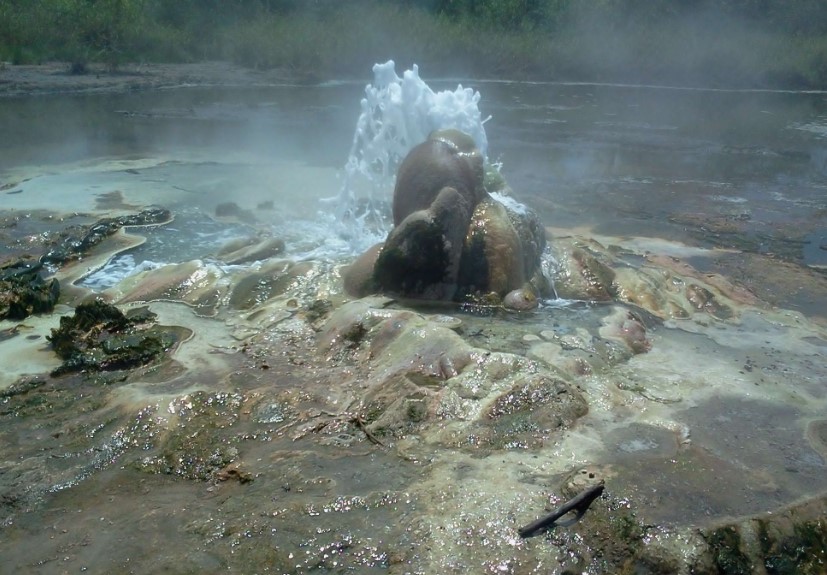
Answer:
[[[545,230],[506,199],[508,185],[487,162],[479,93],[434,93],[415,66],[399,78],[392,61],[373,70],[339,205],[354,213],[357,176],[371,182],[370,199],[381,198],[398,166],[394,227],[349,268],[348,291],[534,307],[549,295]],[[360,222],[373,213],[371,205]]]

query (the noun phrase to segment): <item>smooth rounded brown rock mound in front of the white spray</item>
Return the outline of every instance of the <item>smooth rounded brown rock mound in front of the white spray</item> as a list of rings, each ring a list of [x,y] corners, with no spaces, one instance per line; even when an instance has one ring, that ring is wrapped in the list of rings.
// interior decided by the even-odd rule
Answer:
[[[346,289],[358,297],[384,292],[432,301],[495,297],[497,305],[518,289],[547,295],[545,230],[509,194],[469,136],[432,133],[400,166],[394,228],[345,270]]]

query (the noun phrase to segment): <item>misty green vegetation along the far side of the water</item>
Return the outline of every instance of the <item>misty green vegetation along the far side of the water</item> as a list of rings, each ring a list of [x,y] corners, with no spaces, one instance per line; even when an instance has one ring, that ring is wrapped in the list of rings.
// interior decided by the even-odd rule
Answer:
[[[377,61],[510,79],[827,87],[824,0],[0,0],[15,64],[230,60],[301,77]]]

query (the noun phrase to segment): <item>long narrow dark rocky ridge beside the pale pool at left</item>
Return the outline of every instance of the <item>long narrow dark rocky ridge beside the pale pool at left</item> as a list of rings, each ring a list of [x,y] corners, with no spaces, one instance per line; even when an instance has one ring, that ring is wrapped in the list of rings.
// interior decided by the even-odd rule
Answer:
[[[51,249],[40,257],[40,262],[50,265],[63,265],[76,260],[103,240],[125,226],[149,226],[168,222],[169,210],[164,208],[147,208],[137,214],[117,218],[104,218],[91,226],[69,226],[60,231],[52,243]]]

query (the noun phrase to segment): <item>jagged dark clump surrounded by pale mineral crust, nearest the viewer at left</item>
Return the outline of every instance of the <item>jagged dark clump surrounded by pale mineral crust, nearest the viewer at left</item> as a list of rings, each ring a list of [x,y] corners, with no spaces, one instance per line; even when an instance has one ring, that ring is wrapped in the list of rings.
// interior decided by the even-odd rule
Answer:
[[[47,337],[64,360],[53,375],[131,369],[159,359],[177,337],[151,325],[154,320],[147,310],[124,315],[100,299],[80,304],[74,315],[61,317],[60,327]]]

